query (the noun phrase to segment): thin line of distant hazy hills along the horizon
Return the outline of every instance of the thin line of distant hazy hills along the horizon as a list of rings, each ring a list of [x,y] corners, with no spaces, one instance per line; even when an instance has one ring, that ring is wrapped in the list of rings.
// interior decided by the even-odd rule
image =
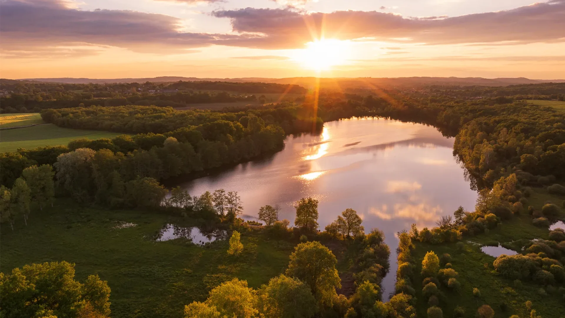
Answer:
[[[314,77],[305,78],[186,78],[182,76],[159,76],[157,78],[121,78],[121,79],[89,79],[89,78],[34,78],[19,79],[20,81],[36,81],[49,83],[66,83],[66,84],[104,84],[104,83],[145,83],[146,81],[154,83],[166,83],[174,81],[232,81],[232,82],[262,82],[277,84],[297,84],[303,87],[314,87],[319,80],[320,85],[324,88],[362,88],[362,87],[403,87],[418,85],[482,85],[482,86],[507,86],[517,84],[540,84],[540,83],[565,83],[565,79],[556,80],[536,80],[527,78],[438,78],[438,77],[412,77],[412,78],[321,78]],[[4,80],[2,80],[4,81]]]

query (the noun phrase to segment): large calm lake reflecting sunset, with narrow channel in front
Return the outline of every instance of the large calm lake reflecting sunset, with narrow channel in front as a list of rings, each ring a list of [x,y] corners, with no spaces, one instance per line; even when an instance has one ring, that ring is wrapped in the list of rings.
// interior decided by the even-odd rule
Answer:
[[[224,188],[237,191],[244,216],[279,204],[280,218],[293,224],[293,203],[320,200],[320,229],[347,208],[357,210],[366,231],[378,227],[389,244],[390,273],[383,285],[394,289],[397,231],[421,229],[462,205],[472,210],[477,194],[453,157],[453,138],[422,124],[387,119],[346,119],[324,124],[319,135],[290,136],[285,149],[268,160],[181,184],[192,195]]]

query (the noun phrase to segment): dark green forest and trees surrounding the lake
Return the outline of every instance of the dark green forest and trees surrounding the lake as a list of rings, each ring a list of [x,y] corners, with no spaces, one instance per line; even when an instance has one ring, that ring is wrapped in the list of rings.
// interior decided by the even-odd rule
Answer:
[[[276,244],[275,249],[290,244],[284,268],[261,285],[250,287],[234,275],[214,276],[206,293],[190,294],[182,308],[181,297],[175,298],[177,307],[160,316],[558,317],[565,301],[565,232],[547,229],[565,220],[565,114],[528,99],[535,93],[536,99],[562,100],[562,92],[565,84],[430,86],[411,91],[323,91],[301,104],[218,111],[131,104],[44,109],[41,116],[47,123],[124,135],[0,154],[1,217],[16,233],[22,223],[34,222],[32,212],[53,211],[49,206],[54,202],[70,200],[101,211],[137,209],[199,220],[228,231],[227,242],[210,245],[219,247],[210,253],[221,253],[218,259],[228,273],[234,264],[253,266],[246,262],[253,261],[249,256],[256,256],[260,244]],[[474,210],[461,207],[453,216],[437,220],[436,227],[419,229],[413,224],[397,233],[398,269],[389,299],[380,285],[389,272],[390,248],[379,229],[366,234],[355,210],[344,210],[321,231],[319,201],[304,197],[295,203],[294,227],[279,220],[277,207],[271,205],[260,209],[258,220],[264,225],[259,225],[241,218],[237,192],[219,189],[191,195],[160,184],[276,152],[289,134],[317,132],[324,122],[351,117],[424,123],[455,137],[454,156],[479,192]],[[537,199],[541,195],[547,200]],[[540,237],[525,237],[528,231],[541,233]],[[481,263],[472,240],[485,245],[494,240],[497,246],[503,243],[520,252]],[[502,282],[502,292],[490,292],[503,295],[487,303],[484,295],[489,291],[466,285],[466,264],[483,270],[479,276],[493,275],[494,281]],[[342,280],[343,272],[350,274],[350,282]],[[84,283],[74,276],[73,265],[66,262],[2,273],[0,313],[111,316],[114,287],[94,274]],[[536,303],[529,298],[512,302],[522,296],[517,293]],[[123,308],[114,312],[128,316]]]

